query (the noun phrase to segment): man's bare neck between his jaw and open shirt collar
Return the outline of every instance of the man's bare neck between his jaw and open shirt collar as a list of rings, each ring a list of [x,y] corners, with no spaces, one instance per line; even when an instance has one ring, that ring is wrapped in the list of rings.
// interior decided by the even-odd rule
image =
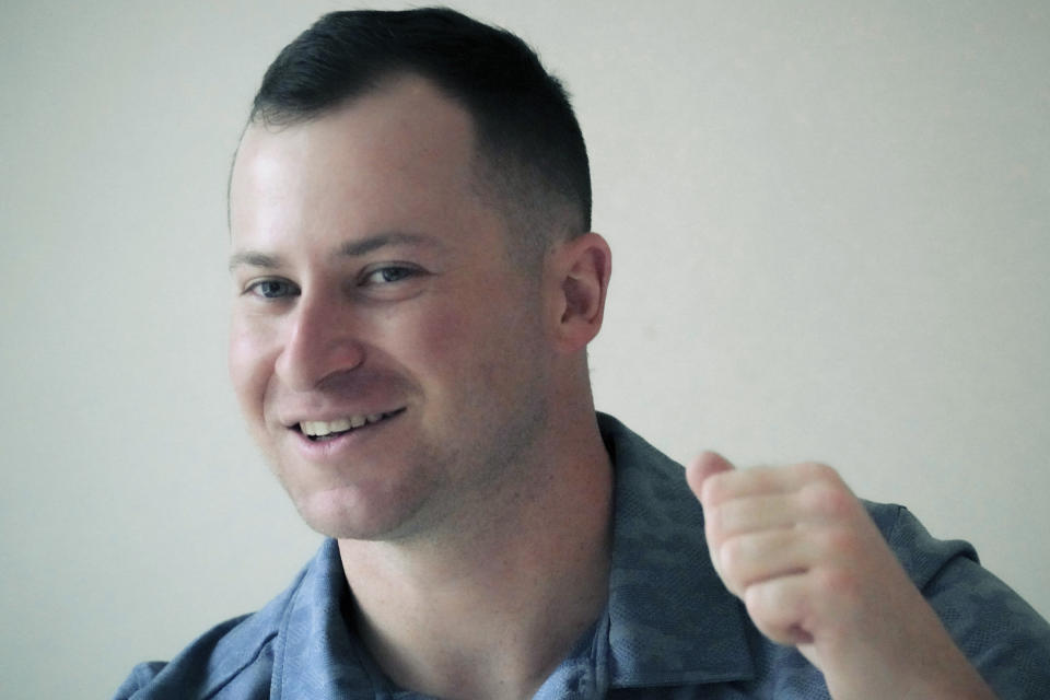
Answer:
[[[562,422],[564,421],[564,422]],[[340,540],[365,645],[399,686],[532,697],[605,607],[612,476],[593,409],[561,417],[498,517],[456,537]]]

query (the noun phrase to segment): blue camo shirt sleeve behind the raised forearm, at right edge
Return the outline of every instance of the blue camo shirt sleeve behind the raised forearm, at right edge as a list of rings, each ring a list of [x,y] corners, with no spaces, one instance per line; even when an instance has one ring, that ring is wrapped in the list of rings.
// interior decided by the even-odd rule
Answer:
[[[1045,699],[1050,625],[982,568],[970,545],[935,539],[895,508],[889,545],[970,663],[1002,700]]]

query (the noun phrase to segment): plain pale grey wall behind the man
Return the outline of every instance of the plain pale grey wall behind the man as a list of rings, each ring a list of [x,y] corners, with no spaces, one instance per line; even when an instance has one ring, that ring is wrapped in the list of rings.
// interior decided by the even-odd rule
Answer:
[[[318,545],[228,388],[224,197],[266,66],[346,7],[0,10],[4,698],[107,697]],[[456,7],[574,95],[599,408],[831,463],[1050,614],[1050,5]]]

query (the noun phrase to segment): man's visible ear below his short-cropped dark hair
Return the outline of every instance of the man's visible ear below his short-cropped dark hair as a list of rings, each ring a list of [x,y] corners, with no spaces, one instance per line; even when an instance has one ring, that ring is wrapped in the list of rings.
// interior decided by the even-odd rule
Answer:
[[[584,349],[602,329],[612,253],[605,238],[585,233],[555,250],[551,269],[555,340],[559,351],[571,354]]]

